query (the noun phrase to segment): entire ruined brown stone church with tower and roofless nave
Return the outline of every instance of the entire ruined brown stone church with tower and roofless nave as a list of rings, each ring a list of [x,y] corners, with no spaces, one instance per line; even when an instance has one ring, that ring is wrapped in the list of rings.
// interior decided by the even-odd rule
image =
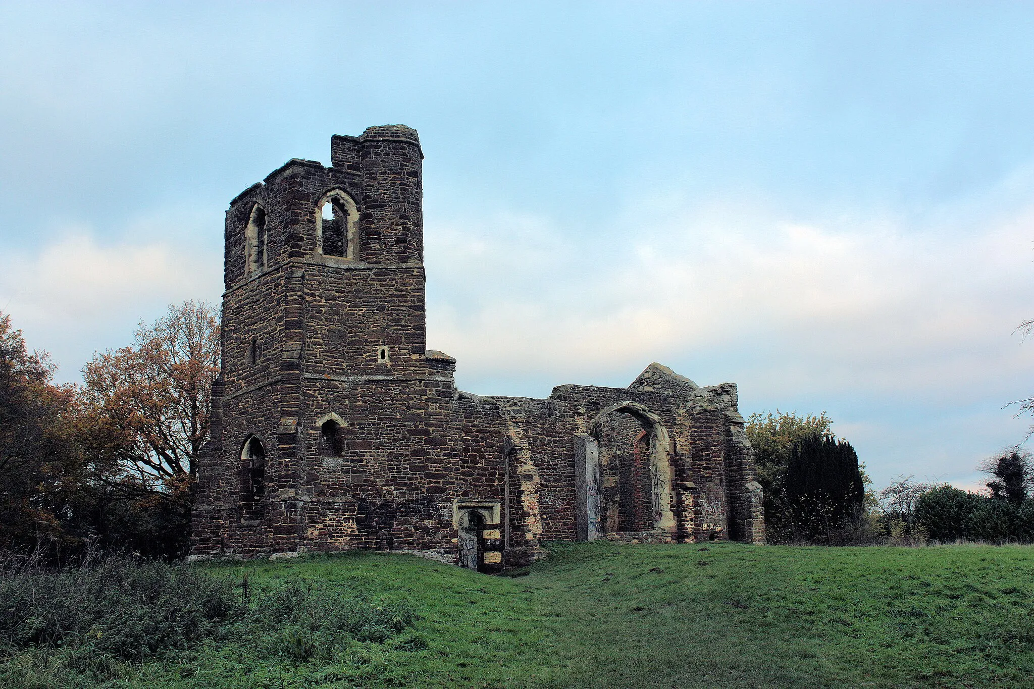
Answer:
[[[191,555],[379,549],[481,571],[549,540],[764,540],[736,386],[650,364],[544,399],[456,389],[425,342],[423,153],[333,136],[230,202],[222,371]]]

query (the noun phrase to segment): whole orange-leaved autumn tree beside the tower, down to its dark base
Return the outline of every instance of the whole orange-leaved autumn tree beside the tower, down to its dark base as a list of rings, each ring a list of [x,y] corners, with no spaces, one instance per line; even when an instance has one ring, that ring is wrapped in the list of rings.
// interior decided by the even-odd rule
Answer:
[[[100,496],[89,522],[102,544],[186,554],[219,353],[217,312],[185,302],[84,367],[79,438]]]

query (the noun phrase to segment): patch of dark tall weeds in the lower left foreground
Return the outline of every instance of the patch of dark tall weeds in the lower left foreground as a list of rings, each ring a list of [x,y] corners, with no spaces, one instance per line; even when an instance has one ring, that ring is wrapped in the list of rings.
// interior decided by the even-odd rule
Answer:
[[[329,660],[414,624],[407,603],[343,585],[264,582],[182,563],[88,556],[49,569],[0,557],[0,686],[92,686],[211,640],[290,661]]]

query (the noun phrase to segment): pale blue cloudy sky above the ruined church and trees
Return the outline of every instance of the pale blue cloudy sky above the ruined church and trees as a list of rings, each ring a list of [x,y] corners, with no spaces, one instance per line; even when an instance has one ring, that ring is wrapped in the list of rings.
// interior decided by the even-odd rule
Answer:
[[[461,387],[652,361],[826,410],[877,484],[973,486],[1034,395],[1030,3],[0,3],[0,309],[75,380],[222,213],[420,131],[428,341]]]

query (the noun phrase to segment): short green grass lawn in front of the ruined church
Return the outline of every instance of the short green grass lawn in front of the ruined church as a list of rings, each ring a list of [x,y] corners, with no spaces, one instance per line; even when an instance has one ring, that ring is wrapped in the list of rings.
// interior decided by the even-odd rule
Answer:
[[[209,640],[105,668],[121,678],[108,686],[1034,686],[1032,547],[591,543],[551,553],[511,577],[377,553],[205,565],[236,580],[248,572],[257,587],[330,582],[405,599],[420,619],[324,660]],[[23,653],[7,665],[36,667],[47,686],[44,659]]]

